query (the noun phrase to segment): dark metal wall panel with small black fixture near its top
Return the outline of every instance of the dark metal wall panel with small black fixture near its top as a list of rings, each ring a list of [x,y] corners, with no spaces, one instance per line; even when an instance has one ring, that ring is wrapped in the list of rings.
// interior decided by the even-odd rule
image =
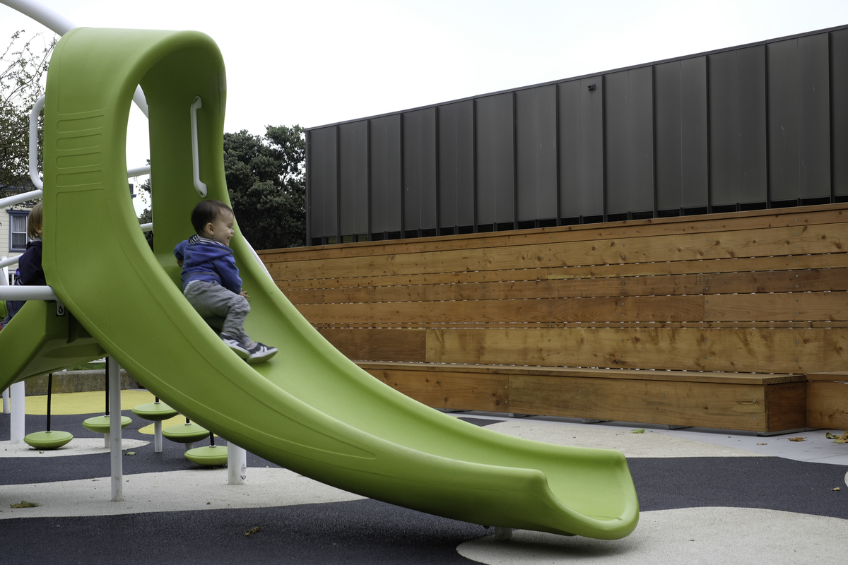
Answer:
[[[560,217],[600,216],[604,213],[604,77],[563,82],[559,98]]]

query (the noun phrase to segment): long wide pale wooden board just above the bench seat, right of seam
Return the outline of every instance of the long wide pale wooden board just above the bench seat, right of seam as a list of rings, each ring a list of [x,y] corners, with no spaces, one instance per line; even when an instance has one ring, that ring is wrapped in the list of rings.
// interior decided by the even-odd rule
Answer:
[[[427,330],[428,363],[808,373],[848,366],[848,330]]]

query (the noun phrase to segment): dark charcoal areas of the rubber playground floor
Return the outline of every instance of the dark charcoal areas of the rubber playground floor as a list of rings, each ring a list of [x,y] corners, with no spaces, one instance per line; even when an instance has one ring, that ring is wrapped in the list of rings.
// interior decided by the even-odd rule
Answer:
[[[132,418],[130,411],[124,413]],[[102,437],[82,428],[88,416],[54,416],[53,429],[77,437]],[[492,420],[463,418],[486,425]],[[44,416],[27,416],[28,430]],[[134,418],[127,439],[152,440]],[[0,415],[0,438],[8,438]],[[224,443],[221,441],[221,443]],[[183,446],[152,443],[124,457],[124,473],[194,468]],[[848,468],[778,457],[631,458],[643,511],[685,507],[754,507],[848,519]],[[248,467],[272,466],[248,454]],[[98,478],[109,475],[109,454],[0,458],[2,485]],[[840,491],[832,490],[841,486]],[[259,531],[246,536],[254,527]],[[456,546],[492,530],[373,500],[325,504],[156,512],[86,518],[0,520],[3,562],[46,563],[471,563]],[[615,543],[611,541],[610,543]]]

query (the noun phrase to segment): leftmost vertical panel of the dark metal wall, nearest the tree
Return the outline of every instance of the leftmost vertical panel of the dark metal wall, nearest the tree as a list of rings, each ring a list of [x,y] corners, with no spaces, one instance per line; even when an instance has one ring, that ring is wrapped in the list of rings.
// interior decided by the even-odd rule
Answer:
[[[310,131],[310,237],[338,235],[336,128]]]

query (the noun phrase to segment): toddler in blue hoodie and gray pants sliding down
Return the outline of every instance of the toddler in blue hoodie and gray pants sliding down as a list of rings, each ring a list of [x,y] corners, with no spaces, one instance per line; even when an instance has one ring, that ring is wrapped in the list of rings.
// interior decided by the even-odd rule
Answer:
[[[196,235],[174,248],[182,268],[182,293],[220,339],[248,363],[260,363],[274,356],[276,347],[251,341],[244,333],[244,319],[250,312],[238,277],[236,259],[230,249],[232,208],[218,200],[204,200],[192,211]]]

